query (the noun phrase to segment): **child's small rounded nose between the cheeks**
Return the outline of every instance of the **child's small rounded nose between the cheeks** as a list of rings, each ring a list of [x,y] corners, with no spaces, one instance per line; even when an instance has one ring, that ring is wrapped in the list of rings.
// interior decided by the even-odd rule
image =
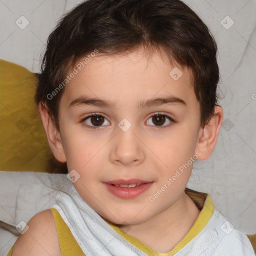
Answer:
[[[126,131],[117,127],[109,154],[110,161],[125,166],[137,165],[143,162],[145,157],[143,148],[145,146],[139,137],[139,132],[135,130],[133,125]]]

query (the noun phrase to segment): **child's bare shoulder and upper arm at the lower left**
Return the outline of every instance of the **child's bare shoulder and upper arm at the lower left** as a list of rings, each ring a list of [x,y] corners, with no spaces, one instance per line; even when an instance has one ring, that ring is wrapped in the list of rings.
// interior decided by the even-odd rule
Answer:
[[[12,255],[60,256],[58,236],[50,209],[36,213],[28,222],[28,229],[19,234]]]

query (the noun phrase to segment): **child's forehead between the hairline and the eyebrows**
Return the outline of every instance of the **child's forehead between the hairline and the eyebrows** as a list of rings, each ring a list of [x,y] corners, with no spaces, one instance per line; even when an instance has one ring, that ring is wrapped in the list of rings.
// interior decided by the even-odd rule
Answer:
[[[196,100],[190,70],[170,61],[163,52],[148,55],[138,49],[116,55],[97,53],[86,62],[85,57],[72,67],[77,73],[65,86],[61,98],[65,105],[82,95],[108,100],[115,107],[135,107],[135,102],[138,106],[141,100],[167,95],[188,104]]]

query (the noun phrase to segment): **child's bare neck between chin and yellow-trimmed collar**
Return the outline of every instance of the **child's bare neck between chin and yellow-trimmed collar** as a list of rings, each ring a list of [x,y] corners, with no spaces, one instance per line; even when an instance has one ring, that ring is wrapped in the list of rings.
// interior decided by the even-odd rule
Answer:
[[[166,253],[185,236],[199,213],[192,199],[183,192],[174,203],[152,218],[129,226],[127,233],[157,252]],[[125,225],[119,227],[126,229]]]

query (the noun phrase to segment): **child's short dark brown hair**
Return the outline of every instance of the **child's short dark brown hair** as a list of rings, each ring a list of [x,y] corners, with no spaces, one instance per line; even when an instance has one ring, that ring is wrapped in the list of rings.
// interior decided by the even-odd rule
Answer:
[[[67,70],[94,49],[111,55],[139,46],[151,52],[161,47],[170,59],[190,68],[203,127],[217,102],[217,47],[207,26],[180,0],[87,0],[74,7],[48,37],[35,93],[37,105],[47,106],[59,130],[64,88],[51,99],[47,95],[65,79]]]

